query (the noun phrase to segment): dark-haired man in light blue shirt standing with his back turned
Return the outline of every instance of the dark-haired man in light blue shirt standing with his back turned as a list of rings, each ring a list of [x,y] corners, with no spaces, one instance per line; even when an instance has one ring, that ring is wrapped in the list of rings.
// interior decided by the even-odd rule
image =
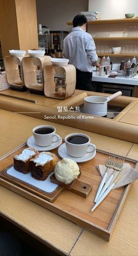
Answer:
[[[87,18],[76,15],[73,28],[63,40],[63,57],[76,67],[76,89],[92,88],[92,66],[99,67],[95,42],[86,32]]]

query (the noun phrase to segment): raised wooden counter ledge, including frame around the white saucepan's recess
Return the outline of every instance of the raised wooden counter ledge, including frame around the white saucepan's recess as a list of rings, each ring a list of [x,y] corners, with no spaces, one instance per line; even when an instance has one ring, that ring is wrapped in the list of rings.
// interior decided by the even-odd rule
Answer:
[[[100,95],[108,96],[106,93],[97,92],[85,92],[79,90],[75,95],[60,101],[55,99],[46,98],[42,95],[29,95],[28,92],[15,92],[15,95],[19,96],[19,99],[11,98],[11,90],[7,90],[6,93],[3,92],[3,96],[0,96],[0,108],[14,113],[21,113],[23,115],[33,116],[35,118],[42,119],[44,121],[52,120],[55,123],[68,125],[69,127],[75,127],[79,129],[84,129],[90,132],[96,132],[97,134],[103,134],[109,137],[118,138],[120,140],[126,140],[138,143],[137,137],[137,124],[136,120],[133,119],[131,122],[125,120],[125,122],[120,122],[127,112],[130,111],[138,102],[137,98],[119,96],[110,102],[114,106],[123,106],[123,111],[121,111],[115,118],[109,119],[100,116],[92,116],[83,114],[83,112],[73,112],[69,111],[70,106],[81,106],[84,103],[85,96],[90,95]],[[14,93],[14,92],[13,92]],[[0,93],[1,95],[1,93]],[[24,99],[23,99],[24,98]],[[26,99],[38,99],[39,102],[25,102]],[[36,100],[37,101],[37,100]],[[57,103],[58,101],[58,103]],[[51,103],[51,105],[50,105]],[[55,104],[54,104],[55,103]],[[48,104],[48,105],[47,105]],[[60,107],[59,107],[60,106]],[[67,106],[67,111],[64,110],[64,106]],[[59,112],[60,108],[61,112]],[[138,114],[136,114],[137,116]],[[137,118],[136,118],[137,119]]]

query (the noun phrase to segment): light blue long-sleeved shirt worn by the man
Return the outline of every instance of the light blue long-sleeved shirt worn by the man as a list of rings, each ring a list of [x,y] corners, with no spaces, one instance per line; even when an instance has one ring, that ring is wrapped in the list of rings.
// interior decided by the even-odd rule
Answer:
[[[92,72],[92,63],[97,61],[95,42],[92,35],[80,27],[72,28],[63,40],[63,56],[76,69]]]

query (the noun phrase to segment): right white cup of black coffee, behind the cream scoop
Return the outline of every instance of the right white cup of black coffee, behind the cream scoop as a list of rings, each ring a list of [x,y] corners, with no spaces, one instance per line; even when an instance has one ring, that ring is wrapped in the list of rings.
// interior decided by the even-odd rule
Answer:
[[[96,150],[95,144],[90,143],[90,137],[86,134],[69,134],[65,137],[65,144],[67,153],[72,157],[83,157],[85,154],[93,153]]]

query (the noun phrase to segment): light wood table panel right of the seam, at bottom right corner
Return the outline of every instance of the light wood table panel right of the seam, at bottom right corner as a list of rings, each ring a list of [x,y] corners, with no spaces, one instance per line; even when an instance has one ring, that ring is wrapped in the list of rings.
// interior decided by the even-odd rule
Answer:
[[[70,256],[137,256],[137,196],[138,180],[130,189],[109,243],[84,230]]]

